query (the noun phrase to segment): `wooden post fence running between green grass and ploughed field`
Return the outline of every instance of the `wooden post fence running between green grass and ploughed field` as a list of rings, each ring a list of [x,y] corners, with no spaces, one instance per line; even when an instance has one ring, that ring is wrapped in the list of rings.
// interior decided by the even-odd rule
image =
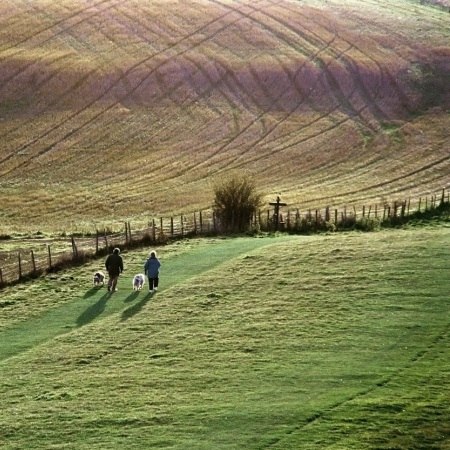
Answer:
[[[274,210],[265,214],[259,211],[252,219],[252,225],[262,231],[277,229],[285,231],[308,231],[318,229],[336,229],[338,226],[351,225],[361,218],[375,218],[380,221],[401,220],[416,212],[425,212],[444,203],[449,204],[449,192],[442,190],[440,195],[419,198],[415,205],[410,199],[395,201],[392,204],[321,209],[286,209],[279,212],[274,220]],[[88,258],[106,255],[114,247],[123,249],[137,245],[157,245],[173,238],[220,233],[220,224],[213,211],[203,210],[177,217],[152,219],[148,227],[133,230],[130,222],[124,223],[124,231],[106,233],[96,230],[91,237],[71,236],[65,241],[54,241],[37,249],[19,249],[14,252],[0,252],[0,288],[27,278],[37,277],[43,273],[58,270],[67,265],[82,263]],[[55,250],[55,247],[58,247]]]

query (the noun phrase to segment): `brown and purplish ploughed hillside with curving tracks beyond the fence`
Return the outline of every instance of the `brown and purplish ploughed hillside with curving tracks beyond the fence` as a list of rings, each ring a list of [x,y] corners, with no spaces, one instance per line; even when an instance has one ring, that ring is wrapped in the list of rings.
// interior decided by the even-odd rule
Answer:
[[[445,6],[445,3],[442,3]],[[0,4],[0,231],[450,186],[449,14],[419,1]]]

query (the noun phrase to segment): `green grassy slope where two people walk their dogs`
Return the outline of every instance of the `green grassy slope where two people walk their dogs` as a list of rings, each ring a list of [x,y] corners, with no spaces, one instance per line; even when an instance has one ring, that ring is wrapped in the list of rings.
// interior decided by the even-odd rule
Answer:
[[[186,240],[2,291],[5,449],[450,448],[447,227]],[[62,282],[64,281],[64,282]]]

